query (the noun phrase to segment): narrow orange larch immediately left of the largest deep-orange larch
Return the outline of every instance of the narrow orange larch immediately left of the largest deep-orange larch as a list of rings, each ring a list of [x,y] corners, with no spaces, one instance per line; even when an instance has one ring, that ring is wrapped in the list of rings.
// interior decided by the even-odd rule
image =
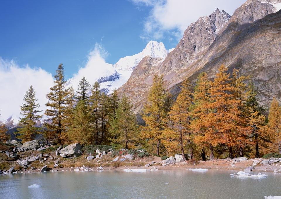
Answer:
[[[213,109],[209,108],[213,99],[210,96],[211,81],[207,79],[207,74],[202,72],[199,74],[193,93],[193,105],[191,106],[192,121],[190,124],[194,134],[194,143],[202,154],[202,159],[206,160],[206,153],[210,151],[210,159],[214,159],[214,151],[212,144],[211,123],[207,123],[208,114],[213,113]]]

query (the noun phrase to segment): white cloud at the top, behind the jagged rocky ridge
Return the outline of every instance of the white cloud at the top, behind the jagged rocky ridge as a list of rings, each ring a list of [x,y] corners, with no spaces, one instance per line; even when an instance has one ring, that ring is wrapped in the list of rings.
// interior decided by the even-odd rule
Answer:
[[[225,10],[230,15],[245,0],[131,0],[134,4],[151,7],[144,22],[142,39],[161,39],[173,35],[180,39],[186,28],[199,17],[209,15],[216,8]]]

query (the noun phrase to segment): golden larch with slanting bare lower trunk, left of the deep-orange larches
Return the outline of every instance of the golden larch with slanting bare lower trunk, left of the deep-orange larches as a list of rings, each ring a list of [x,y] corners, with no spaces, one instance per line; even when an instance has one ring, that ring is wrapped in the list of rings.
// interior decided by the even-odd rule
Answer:
[[[192,103],[190,87],[189,80],[185,79],[181,85],[181,92],[169,111],[169,122],[165,131],[163,131],[163,136],[166,139],[162,141],[169,150],[177,150],[178,146],[180,146],[184,161],[186,160],[184,146],[187,145],[188,135],[190,133],[189,107]]]

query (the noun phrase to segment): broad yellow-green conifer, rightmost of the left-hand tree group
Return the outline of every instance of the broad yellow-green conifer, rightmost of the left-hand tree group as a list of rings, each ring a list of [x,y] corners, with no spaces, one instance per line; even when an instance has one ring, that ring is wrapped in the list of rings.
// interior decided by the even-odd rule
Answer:
[[[123,94],[116,110],[116,117],[110,120],[109,132],[116,136],[112,141],[125,148],[131,148],[137,139],[137,130],[136,115],[128,98]]]

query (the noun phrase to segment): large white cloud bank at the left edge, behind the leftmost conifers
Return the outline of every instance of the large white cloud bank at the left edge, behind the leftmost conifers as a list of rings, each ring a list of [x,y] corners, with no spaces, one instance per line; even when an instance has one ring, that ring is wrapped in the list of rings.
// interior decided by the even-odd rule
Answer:
[[[52,84],[53,78],[49,72],[41,68],[30,68],[28,65],[19,67],[13,60],[0,57],[0,120],[6,120],[11,114],[14,118],[20,117],[23,95],[30,85],[36,91],[40,109],[45,110],[46,94]]]

